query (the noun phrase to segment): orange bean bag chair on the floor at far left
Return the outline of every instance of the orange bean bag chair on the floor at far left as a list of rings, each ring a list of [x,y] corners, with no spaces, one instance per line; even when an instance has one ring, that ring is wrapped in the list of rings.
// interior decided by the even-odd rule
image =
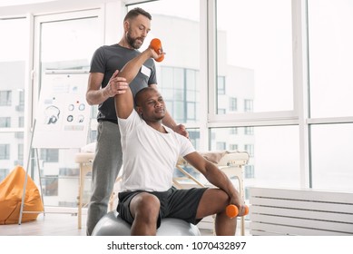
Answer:
[[[25,183],[25,170],[16,166],[0,182],[0,225],[18,223]],[[41,194],[34,181],[28,176],[25,189],[24,211],[43,211]],[[22,221],[36,220],[39,213],[23,213]]]

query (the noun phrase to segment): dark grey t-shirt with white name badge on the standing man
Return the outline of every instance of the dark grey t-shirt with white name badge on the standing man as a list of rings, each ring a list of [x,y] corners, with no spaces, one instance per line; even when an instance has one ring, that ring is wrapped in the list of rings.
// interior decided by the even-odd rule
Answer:
[[[119,44],[101,46],[93,54],[90,73],[104,73],[104,88],[113,73],[123,69],[123,66],[138,54],[141,54],[138,50],[124,48]],[[133,96],[152,83],[157,83],[156,67],[154,61],[148,59],[130,84]],[[99,104],[98,111],[98,121],[117,122],[113,97]]]

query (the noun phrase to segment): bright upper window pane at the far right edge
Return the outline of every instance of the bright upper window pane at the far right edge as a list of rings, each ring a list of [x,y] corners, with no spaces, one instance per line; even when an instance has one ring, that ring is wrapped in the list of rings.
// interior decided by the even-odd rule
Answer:
[[[353,115],[353,2],[310,0],[311,117]]]

